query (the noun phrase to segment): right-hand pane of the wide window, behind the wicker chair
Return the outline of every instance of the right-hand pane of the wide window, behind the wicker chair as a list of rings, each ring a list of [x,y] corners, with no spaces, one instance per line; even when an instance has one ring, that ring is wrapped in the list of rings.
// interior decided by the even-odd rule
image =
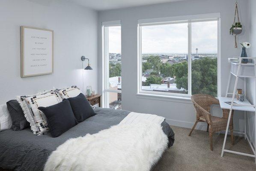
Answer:
[[[191,24],[192,94],[217,97],[217,21]]]

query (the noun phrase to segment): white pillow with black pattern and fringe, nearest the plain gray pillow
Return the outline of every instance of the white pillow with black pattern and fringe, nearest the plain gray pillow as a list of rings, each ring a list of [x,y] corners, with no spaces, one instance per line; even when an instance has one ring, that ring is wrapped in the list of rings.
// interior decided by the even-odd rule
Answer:
[[[25,118],[30,123],[31,130],[37,135],[43,135],[49,131],[45,114],[37,108],[51,106],[62,101],[55,91],[46,91],[30,96],[17,96],[16,99],[23,109]]]

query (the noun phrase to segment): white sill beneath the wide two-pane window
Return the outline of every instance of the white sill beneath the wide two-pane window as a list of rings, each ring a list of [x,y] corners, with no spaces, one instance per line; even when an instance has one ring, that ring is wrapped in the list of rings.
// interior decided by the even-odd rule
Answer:
[[[172,102],[176,102],[176,103],[192,104],[191,97],[180,97],[180,96],[149,94],[149,93],[137,93],[136,95],[137,95],[137,98],[143,98],[143,99],[172,101]]]

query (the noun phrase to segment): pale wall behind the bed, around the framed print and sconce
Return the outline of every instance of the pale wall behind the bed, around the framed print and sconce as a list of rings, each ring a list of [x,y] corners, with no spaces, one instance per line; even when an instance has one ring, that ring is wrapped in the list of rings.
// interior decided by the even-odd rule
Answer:
[[[0,104],[53,86],[82,88],[82,72],[85,88],[97,89],[96,11],[63,0],[1,0],[0,16]],[[54,30],[54,74],[20,77],[20,26]],[[94,70],[82,70],[83,55]]]

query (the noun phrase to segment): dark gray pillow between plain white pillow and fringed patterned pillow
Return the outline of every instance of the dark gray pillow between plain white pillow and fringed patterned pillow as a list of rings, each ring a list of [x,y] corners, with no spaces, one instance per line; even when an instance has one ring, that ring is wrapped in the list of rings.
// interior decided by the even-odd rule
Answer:
[[[6,102],[6,105],[12,118],[13,130],[20,131],[30,127],[30,123],[26,120],[23,110],[17,100],[10,100]]]

